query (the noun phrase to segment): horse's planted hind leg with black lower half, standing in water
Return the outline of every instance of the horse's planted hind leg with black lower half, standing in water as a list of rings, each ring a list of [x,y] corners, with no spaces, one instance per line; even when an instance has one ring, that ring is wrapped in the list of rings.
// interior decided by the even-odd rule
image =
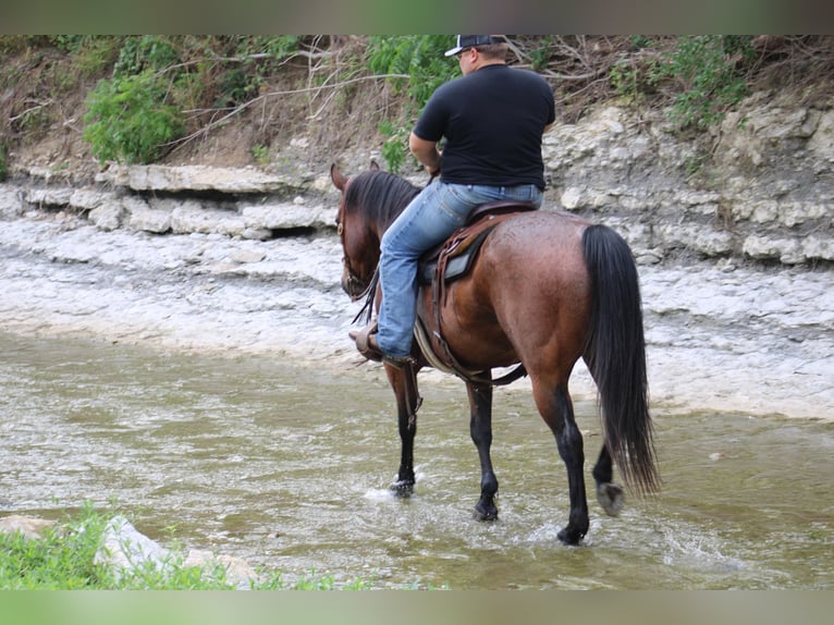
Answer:
[[[556,438],[559,455],[567,469],[567,486],[571,497],[571,514],[567,526],[559,532],[559,539],[566,544],[578,543],[588,532],[588,500],[585,495],[585,452],[582,434],[576,427],[574,406],[566,383],[553,388],[533,380],[536,405]]]

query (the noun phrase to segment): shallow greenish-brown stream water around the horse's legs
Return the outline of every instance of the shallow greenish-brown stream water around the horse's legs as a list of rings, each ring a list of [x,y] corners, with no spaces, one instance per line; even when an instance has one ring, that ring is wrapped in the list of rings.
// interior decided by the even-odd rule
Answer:
[[[161,541],[385,588],[834,587],[829,422],[657,414],[663,492],[609,518],[589,490],[589,535],[566,548],[564,467],[522,390],[496,391],[500,520],[482,524],[457,383],[422,385],[403,500],[381,378],[2,333],[0,351],[0,513],[114,505]],[[594,406],[576,413],[596,458]]]

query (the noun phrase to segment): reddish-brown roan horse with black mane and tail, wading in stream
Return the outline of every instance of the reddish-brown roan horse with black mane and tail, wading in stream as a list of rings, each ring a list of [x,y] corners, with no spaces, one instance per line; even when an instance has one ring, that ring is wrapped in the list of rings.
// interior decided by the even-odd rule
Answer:
[[[342,286],[353,299],[371,291],[381,296],[375,273],[380,240],[419,192],[404,179],[367,171],[347,179],[334,166],[331,180],[342,192],[338,228],[344,250]],[[438,338],[467,370],[470,434],[481,469],[476,516],[498,517],[498,479],[492,470],[492,368],[520,363],[529,375],[536,406],[556,439],[568,478],[571,512],[559,538],[576,544],[588,531],[582,475],[582,437],[574,419],[568,378],[585,359],[603,415],[604,444],[592,476],[597,499],[610,515],[623,505],[623,489],[612,483],[612,458],[629,489],[659,487],[647,401],[642,310],[634,256],[625,241],[604,225],[550,210],[519,212],[502,221],[483,242],[470,271],[446,285],[442,301],[431,287],[418,299],[418,323],[432,347]],[[439,326],[438,327],[438,321]],[[416,368],[430,363],[417,341]],[[394,488],[410,492],[414,482],[416,384],[404,369],[385,365],[396,396],[402,459]]]

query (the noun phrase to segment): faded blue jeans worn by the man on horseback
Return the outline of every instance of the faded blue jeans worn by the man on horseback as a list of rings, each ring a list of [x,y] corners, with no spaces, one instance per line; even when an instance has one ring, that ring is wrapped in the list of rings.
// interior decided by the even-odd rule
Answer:
[[[382,236],[377,344],[389,356],[412,351],[417,306],[417,264],[424,252],[461,228],[477,206],[498,199],[532,201],[541,206],[536,185],[485,186],[434,182],[422,189]]]

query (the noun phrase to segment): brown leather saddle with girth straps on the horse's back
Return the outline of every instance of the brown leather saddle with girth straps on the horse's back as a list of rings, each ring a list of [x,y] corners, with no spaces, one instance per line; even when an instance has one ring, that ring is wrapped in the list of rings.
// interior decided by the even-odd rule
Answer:
[[[538,207],[529,201],[500,200],[483,204],[469,215],[466,224],[420,258],[418,282],[421,290],[431,289],[431,312],[434,321],[431,334],[440,345],[441,353],[434,350],[425,322],[419,317],[415,323],[414,335],[424,356],[436,369],[455,373],[467,381],[491,384],[507,384],[526,375],[524,366],[519,365],[503,378],[491,380],[483,378],[485,371],[473,371],[461,365],[442,336],[440,309],[447,293],[445,285],[466,275],[489,233],[507,218],[537,209]]]

